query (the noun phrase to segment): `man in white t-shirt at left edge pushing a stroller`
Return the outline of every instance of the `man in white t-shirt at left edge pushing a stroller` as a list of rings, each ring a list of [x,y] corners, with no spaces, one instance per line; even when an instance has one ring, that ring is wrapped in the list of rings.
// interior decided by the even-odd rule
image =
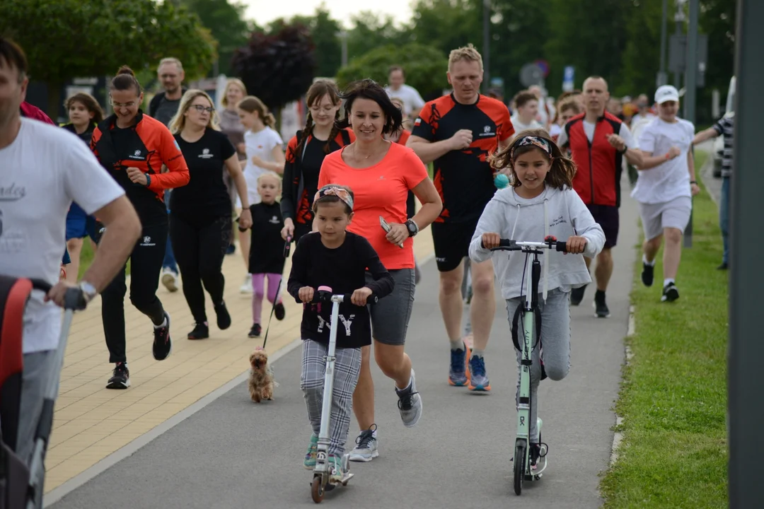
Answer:
[[[77,287],[59,281],[66,211],[76,201],[106,227],[79,283],[86,301],[114,279],[141,234],[141,223],[125,192],[82,140],[59,127],[21,118],[26,73],[24,52],[0,37],[0,274],[54,285],[47,295],[32,292],[24,311],[18,437],[9,445],[29,462],[48,377],[59,372],[52,365],[61,333],[61,311],[55,304],[62,305],[66,290]]]

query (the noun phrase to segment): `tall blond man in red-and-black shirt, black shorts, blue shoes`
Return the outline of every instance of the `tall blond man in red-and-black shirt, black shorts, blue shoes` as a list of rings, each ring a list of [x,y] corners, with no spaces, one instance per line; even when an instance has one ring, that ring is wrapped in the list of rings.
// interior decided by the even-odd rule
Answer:
[[[448,382],[466,385],[469,381],[470,390],[488,391],[483,356],[496,312],[494,268],[490,260],[471,264],[474,349],[467,361],[461,337],[462,260],[468,256],[483,208],[496,192],[487,156],[507,147],[515,130],[507,106],[480,94],[483,59],[471,44],[451,52],[446,76],[453,92],[426,103],[414,122],[408,147],[422,162],[434,163],[435,188],[443,201],[443,209],[432,223],[432,240],[440,272],[440,308],[451,345]]]

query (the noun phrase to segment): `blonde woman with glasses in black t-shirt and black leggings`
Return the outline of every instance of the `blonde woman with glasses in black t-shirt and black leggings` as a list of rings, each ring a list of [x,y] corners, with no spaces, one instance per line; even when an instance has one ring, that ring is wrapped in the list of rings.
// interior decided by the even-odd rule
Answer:
[[[196,321],[188,339],[202,340],[209,337],[202,283],[212,298],[219,329],[231,326],[223,301],[223,256],[231,243],[231,198],[223,182],[224,169],[244,205],[241,227],[251,225],[247,183],[234,146],[219,130],[206,92],[191,89],[183,95],[170,131],[191,173],[189,184],[170,197],[170,240],[183,277],[183,295]]]

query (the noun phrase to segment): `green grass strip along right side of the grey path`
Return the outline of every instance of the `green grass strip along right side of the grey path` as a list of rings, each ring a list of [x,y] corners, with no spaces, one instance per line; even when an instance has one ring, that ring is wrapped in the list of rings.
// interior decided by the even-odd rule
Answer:
[[[636,264],[636,333],[627,340],[634,356],[616,405],[623,442],[601,482],[608,509],[727,507],[727,273],[715,269],[717,207],[705,189],[693,219],[678,301],[660,302],[662,253],[652,288],[639,279],[641,256]]]

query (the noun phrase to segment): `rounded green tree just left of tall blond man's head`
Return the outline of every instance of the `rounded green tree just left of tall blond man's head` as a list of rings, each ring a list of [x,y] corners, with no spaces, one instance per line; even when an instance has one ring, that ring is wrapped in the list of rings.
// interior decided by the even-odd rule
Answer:
[[[418,43],[377,47],[376,50],[354,58],[338,72],[337,84],[345,87],[354,80],[371,78],[385,85],[387,69],[392,65],[406,69],[406,83],[417,89],[422,96],[442,95],[442,90],[448,87],[445,78],[448,58],[442,51]]]

